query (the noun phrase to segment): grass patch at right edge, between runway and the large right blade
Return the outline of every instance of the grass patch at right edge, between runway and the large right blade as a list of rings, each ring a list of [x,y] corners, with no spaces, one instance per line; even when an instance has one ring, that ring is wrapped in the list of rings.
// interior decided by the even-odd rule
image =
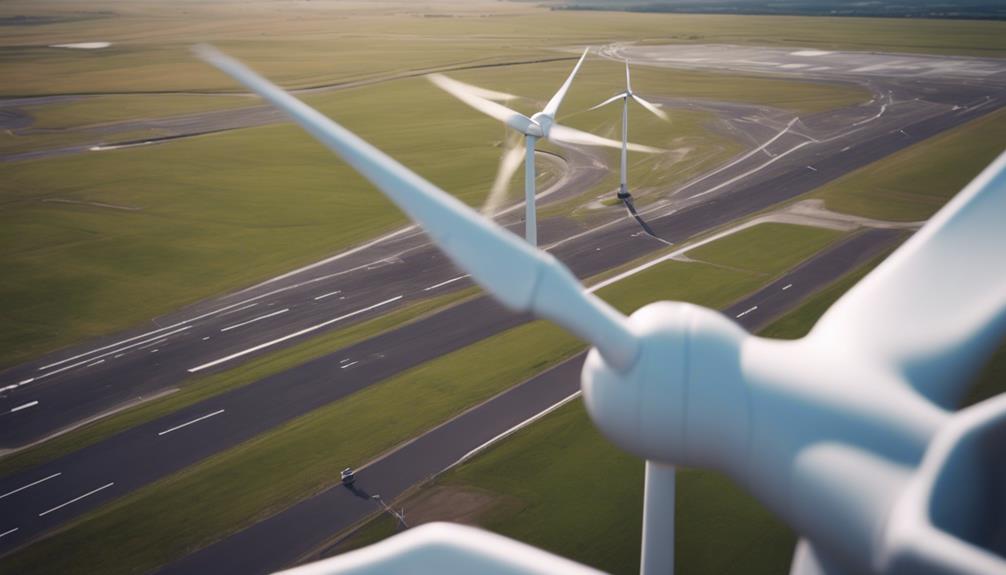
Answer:
[[[924,220],[999,156],[1003,142],[1006,111],[994,112],[839,178],[813,197],[836,211]]]

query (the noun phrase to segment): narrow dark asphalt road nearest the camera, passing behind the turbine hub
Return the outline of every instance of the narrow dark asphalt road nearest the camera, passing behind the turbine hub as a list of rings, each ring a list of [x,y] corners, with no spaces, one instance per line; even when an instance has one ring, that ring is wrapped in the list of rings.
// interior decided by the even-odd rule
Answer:
[[[723,313],[757,330],[803,299],[892,247],[902,232],[868,230],[805,261]],[[784,285],[790,285],[783,290]],[[290,567],[339,532],[379,512],[369,500],[391,501],[405,490],[451,466],[497,435],[568,398],[579,390],[585,352],[483,403],[358,471],[354,489],[336,485],[222,541],[173,563],[158,573],[272,573]],[[347,461],[350,465],[353,461]]]

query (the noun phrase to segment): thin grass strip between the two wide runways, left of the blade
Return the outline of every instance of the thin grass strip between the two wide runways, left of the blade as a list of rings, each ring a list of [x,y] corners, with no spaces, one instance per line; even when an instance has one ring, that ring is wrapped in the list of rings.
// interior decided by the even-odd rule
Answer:
[[[385,316],[319,336],[286,350],[271,353],[224,372],[189,378],[182,382],[180,391],[171,395],[99,419],[74,429],[72,432],[58,435],[36,446],[3,457],[0,459],[0,475],[7,475],[50,461],[131,427],[202,401],[207,397],[253,383],[371,338],[381,332],[400,327],[475,292],[475,289],[470,289],[420,302]]]

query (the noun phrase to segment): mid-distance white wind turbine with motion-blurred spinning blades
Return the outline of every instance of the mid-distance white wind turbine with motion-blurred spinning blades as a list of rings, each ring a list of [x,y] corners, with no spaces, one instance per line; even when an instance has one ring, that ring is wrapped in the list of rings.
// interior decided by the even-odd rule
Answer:
[[[615,140],[602,138],[601,136],[589,134],[574,128],[555,124],[555,114],[558,112],[559,105],[562,104],[562,99],[565,98],[566,91],[569,90],[572,78],[579,70],[579,66],[582,65],[590,49],[590,47],[583,49],[583,53],[576,61],[576,65],[573,66],[572,71],[569,72],[565,81],[562,82],[558,91],[548,101],[545,108],[530,118],[494,102],[504,100],[509,94],[467,84],[443,74],[430,75],[430,80],[448,93],[475,110],[503,122],[524,136],[524,238],[531,245],[537,245],[538,242],[536,212],[534,208],[534,148],[538,140],[545,138],[568,144],[607,146],[610,148],[623,147],[623,143],[616,142]],[[631,147],[633,150],[640,152],[657,153],[660,151],[649,146],[631,145]],[[493,189],[489,194],[489,200],[486,202],[486,210],[484,211],[491,212],[501,203],[502,196],[506,192],[507,183],[517,168],[520,167],[520,161],[519,148],[507,148],[504,150],[503,158],[500,161],[500,170],[496,176],[496,181],[493,184]],[[492,215],[492,213],[489,213],[489,215]]]

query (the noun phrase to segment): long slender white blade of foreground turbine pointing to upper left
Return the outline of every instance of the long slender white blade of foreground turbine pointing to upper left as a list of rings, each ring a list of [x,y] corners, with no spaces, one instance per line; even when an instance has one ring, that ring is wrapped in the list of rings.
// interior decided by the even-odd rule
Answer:
[[[460,267],[508,308],[552,320],[593,343],[614,368],[636,361],[639,340],[624,316],[589,294],[557,259],[481,217],[318,111],[215,48],[198,54],[285,112],[422,225]]]

